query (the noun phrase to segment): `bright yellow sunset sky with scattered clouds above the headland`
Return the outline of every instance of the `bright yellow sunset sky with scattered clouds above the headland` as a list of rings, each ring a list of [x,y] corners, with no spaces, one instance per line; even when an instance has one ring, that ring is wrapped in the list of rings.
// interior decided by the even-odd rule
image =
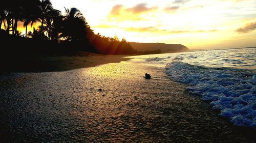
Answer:
[[[256,47],[255,0],[51,0],[78,8],[95,33],[190,49]]]

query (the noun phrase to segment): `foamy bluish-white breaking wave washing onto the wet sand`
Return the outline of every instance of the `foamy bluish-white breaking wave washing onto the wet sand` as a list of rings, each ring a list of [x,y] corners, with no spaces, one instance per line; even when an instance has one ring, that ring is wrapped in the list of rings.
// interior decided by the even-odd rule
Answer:
[[[167,64],[170,79],[189,85],[187,90],[210,100],[213,109],[234,125],[256,129],[256,74],[231,68],[205,68],[174,60]]]

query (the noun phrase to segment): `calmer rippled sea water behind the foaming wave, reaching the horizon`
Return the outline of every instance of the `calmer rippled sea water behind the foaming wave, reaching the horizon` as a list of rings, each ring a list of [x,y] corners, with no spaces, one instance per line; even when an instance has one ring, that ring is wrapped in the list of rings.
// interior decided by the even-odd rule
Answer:
[[[256,48],[208,50],[132,56],[144,63],[165,67],[173,60],[210,68],[256,69]]]

